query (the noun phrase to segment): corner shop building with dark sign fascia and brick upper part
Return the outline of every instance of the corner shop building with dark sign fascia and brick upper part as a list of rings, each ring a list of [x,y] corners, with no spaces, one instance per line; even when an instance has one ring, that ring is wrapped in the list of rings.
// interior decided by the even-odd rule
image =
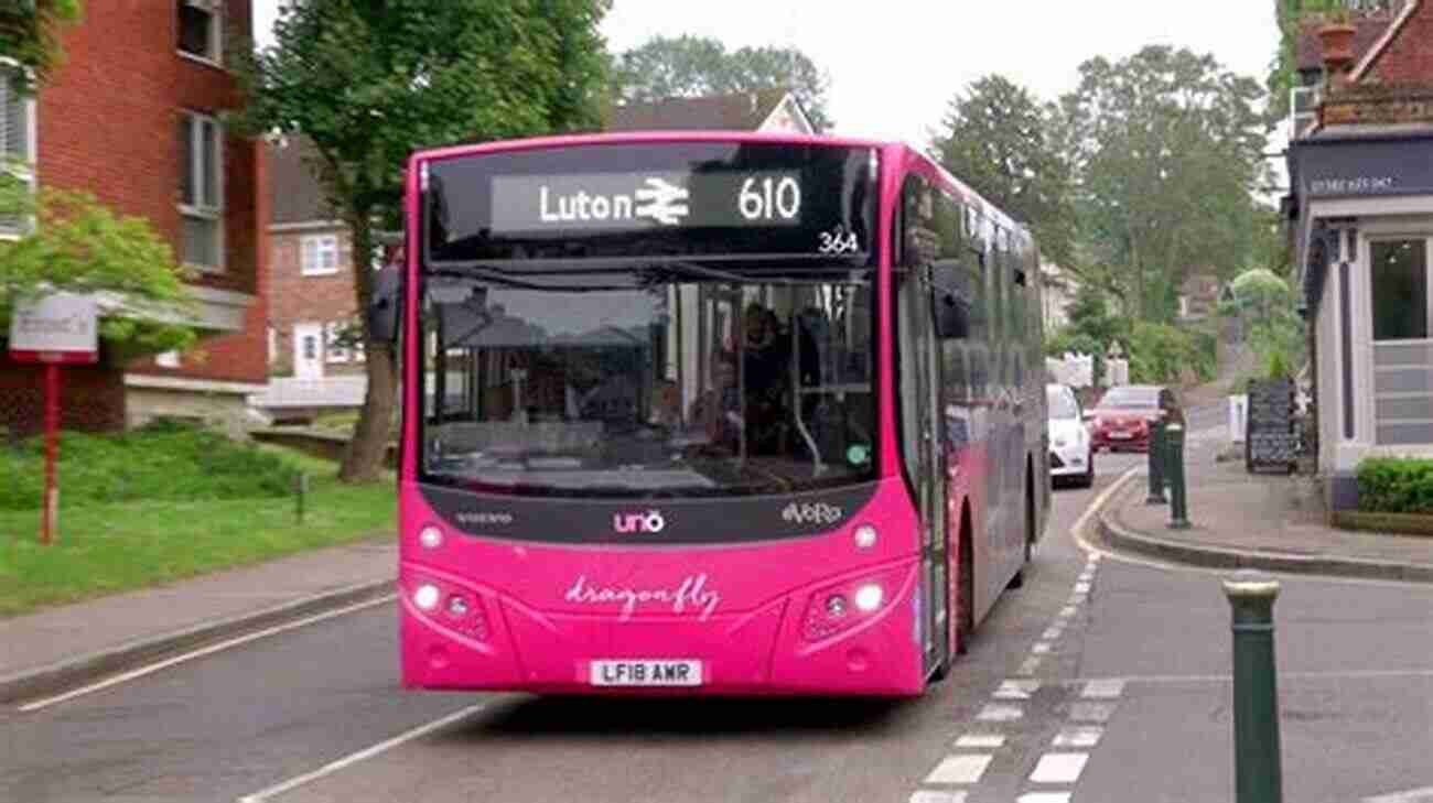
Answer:
[[[1433,457],[1433,0],[1393,10],[1364,52],[1324,40],[1317,122],[1288,152],[1333,510],[1357,507],[1364,457]]]

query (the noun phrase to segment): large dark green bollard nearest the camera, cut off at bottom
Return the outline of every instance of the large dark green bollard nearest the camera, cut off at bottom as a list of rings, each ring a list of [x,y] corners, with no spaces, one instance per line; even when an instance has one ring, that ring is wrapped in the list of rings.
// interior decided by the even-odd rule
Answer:
[[[1274,598],[1278,581],[1241,570],[1224,581],[1234,620],[1234,800],[1281,803]]]

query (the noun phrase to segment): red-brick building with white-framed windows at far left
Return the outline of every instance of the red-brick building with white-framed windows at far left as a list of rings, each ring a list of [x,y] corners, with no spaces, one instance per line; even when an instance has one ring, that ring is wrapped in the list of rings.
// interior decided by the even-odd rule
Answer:
[[[265,165],[257,143],[219,119],[239,103],[226,40],[251,24],[249,0],[86,3],[63,34],[62,66],[34,97],[0,82],[3,150],[29,160],[39,186],[87,190],[146,218],[198,271],[195,349],[120,362],[102,346],[100,365],[66,372],[66,427],[176,415],[238,431],[246,395],[262,388]],[[36,372],[0,365],[0,415],[16,431],[39,425]]]

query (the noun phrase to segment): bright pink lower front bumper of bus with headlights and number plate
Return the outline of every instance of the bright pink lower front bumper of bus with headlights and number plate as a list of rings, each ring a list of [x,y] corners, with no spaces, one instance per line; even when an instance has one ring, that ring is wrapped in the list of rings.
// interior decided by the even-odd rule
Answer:
[[[866,568],[751,611],[702,617],[539,611],[493,588],[404,567],[403,684],[550,694],[914,696],[924,688],[917,570],[914,560]],[[871,585],[881,588],[874,607],[877,594],[861,591]]]

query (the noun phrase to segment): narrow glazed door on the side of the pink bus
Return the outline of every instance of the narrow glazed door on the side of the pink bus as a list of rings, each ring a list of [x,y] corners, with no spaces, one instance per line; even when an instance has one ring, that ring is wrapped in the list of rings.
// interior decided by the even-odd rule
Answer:
[[[950,658],[946,455],[940,432],[940,359],[931,319],[930,265],[911,268],[898,296],[903,461],[916,494],[921,537],[921,633],[927,673]]]

